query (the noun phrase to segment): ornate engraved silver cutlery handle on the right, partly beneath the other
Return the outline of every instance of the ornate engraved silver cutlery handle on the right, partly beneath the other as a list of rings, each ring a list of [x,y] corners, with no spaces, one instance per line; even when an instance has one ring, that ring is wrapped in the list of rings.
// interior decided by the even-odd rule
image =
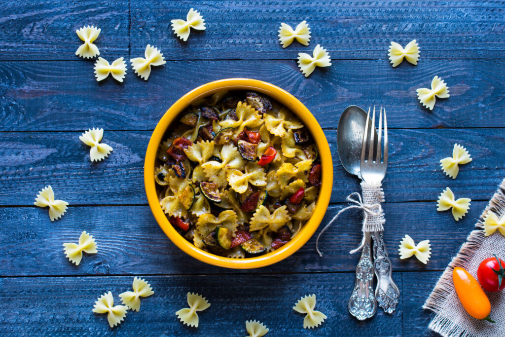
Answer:
[[[396,309],[400,291],[391,276],[391,260],[387,255],[386,245],[384,244],[384,232],[373,232],[374,240],[374,268],[377,276],[377,287],[375,288],[375,298],[379,307],[388,314]]]

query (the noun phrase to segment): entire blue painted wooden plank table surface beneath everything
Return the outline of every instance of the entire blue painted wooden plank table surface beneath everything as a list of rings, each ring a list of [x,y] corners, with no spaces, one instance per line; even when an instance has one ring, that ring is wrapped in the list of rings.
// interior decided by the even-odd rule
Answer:
[[[204,32],[182,42],[170,20],[199,10]],[[309,47],[282,49],[281,22],[307,20]],[[148,81],[131,68],[124,83],[96,82],[93,61],[75,56],[83,25],[102,29],[96,45],[108,60],[143,55],[159,46],[167,63]],[[387,60],[391,40],[417,39],[417,66]],[[272,336],[428,335],[430,315],[421,306],[488,199],[505,177],[505,3],[444,1],[206,1],[0,2],[0,331],[7,335],[245,335],[245,320],[263,321]],[[299,52],[320,43],[332,66],[305,78]],[[433,111],[416,99],[434,75],[449,86],[450,98]],[[334,160],[327,223],[359,189],[336,154],[336,126],[345,107],[387,108],[390,164],[384,182],[386,243],[393,277],[401,292],[392,315],[381,310],[360,322],[347,312],[358,256],[361,218],[348,212],[321,240],[315,237],[286,260],[256,270],[228,270],[186,256],[161,231],[147,206],[143,158],[157,121],[188,90],[220,78],[251,77],[276,84],[298,97],[324,128]],[[103,127],[114,148],[106,160],[90,163],[78,136]],[[439,160],[461,143],[473,161],[452,180]],[[51,222],[33,206],[37,191],[51,184],[70,203]],[[442,189],[473,200],[455,222],[436,211]],[[79,266],[64,256],[62,243],[86,230],[99,253]],[[319,231],[318,231],[319,232]],[[430,239],[427,265],[399,260],[400,238]],[[145,277],[155,295],[140,312],[110,329],[91,312],[106,291],[116,296]],[[175,316],[188,291],[212,303],[200,326],[188,328]],[[302,328],[291,308],[316,294],[328,319],[316,330]]]

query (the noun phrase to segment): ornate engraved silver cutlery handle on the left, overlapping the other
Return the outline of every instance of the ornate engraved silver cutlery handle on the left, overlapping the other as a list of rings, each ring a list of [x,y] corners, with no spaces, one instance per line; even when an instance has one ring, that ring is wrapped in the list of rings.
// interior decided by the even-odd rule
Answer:
[[[370,250],[370,233],[365,233],[365,245],[361,251],[360,262],[356,266],[356,283],[351,293],[347,308],[352,316],[359,320],[372,317],[377,311],[373,280],[374,266]]]

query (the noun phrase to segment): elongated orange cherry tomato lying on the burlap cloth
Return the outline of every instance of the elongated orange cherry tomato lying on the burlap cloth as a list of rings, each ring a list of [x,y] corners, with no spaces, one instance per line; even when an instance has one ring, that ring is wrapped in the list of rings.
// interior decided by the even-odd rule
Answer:
[[[479,282],[468,271],[460,267],[456,267],[452,271],[452,280],[461,304],[468,314],[477,319],[493,322],[489,318],[491,303],[489,303]]]

